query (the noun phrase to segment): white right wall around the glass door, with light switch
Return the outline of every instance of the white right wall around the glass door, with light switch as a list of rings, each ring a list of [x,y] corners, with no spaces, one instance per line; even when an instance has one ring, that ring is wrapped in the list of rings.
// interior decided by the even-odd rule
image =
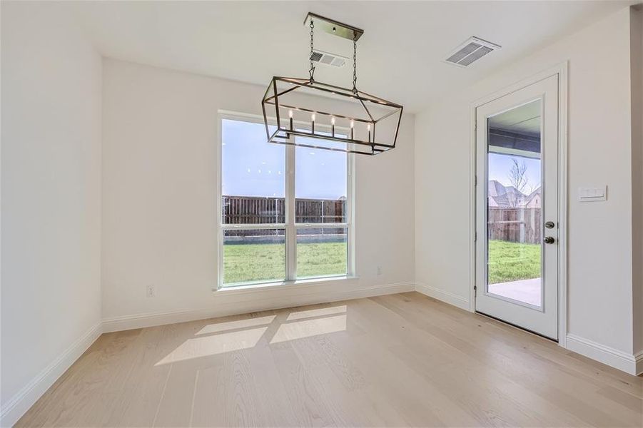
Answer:
[[[632,355],[629,37],[622,9],[416,116],[418,283],[469,305],[471,103],[569,60],[568,329]],[[592,184],[607,184],[608,200],[578,203],[577,188]]]

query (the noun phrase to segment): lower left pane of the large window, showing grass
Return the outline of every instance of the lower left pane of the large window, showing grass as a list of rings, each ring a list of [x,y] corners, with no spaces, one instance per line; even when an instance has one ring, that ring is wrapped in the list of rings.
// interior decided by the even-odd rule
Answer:
[[[223,286],[285,279],[285,230],[224,230]]]

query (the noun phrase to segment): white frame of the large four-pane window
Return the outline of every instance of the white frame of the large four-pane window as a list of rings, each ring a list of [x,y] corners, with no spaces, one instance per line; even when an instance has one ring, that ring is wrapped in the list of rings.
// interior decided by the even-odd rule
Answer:
[[[218,112],[218,143],[217,143],[217,198],[216,198],[216,215],[217,215],[217,258],[218,258],[218,280],[215,290],[233,290],[238,287],[247,286],[274,286],[274,285],[295,285],[300,282],[315,282],[318,280],[348,279],[355,277],[355,228],[354,228],[354,206],[355,199],[353,189],[355,188],[355,156],[353,153],[346,153],[346,221],[345,223],[295,223],[295,148],[293,145],[286,145],[285,148],[285,223],[269,224],[244,224],[244,225],[227,225],[223,224],[223,120],[242,121],[250,123],[260,123],[263,125],[263,117],[253,114],[236,113],[232,111]],[[272,118],[275,122],[276,119]],[[305,127],[306,123],[295,122],[298,126]],[[318,126],[318,129],[323,127]],[[330,128],[328,129],[330,132]],[[344,131],[338,129],[338,131]],[[348,133],[348,128],[345,130]],[[291,136],[290,138],[295,138]],[[294,141],[291,141],[294,143]],[[269,144],[269,143],[266,143]],[[307,228],[346,228],[347,236],[347,260],[346,273],[341,275],[323,275],[319,277],[305,277],[297,279],[297,231]],[[231,285],[223,285],[223,231],[224,230],[252,230],[252,229],[284,229],[285,230],[285,280],[265,280],[265,281],[248,281],[239,282]]]

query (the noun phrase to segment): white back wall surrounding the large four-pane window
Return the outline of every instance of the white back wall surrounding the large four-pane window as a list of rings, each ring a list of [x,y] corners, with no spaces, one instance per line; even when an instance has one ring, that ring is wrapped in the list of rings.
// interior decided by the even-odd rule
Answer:
[[[357,158],[358,280],[251,295],[212,291],[218,260],[217,114],[260,114],[263,91],[218,78],[103,62],[107,330],[345,298],[360,290],[412,289],[414,119],[405,116],[398,148]],[[377,265],[382,275],[376,275]],[[156,297],[146,297],[147,285],[156,286]],[[402,288],[379,288],[386,285]]]

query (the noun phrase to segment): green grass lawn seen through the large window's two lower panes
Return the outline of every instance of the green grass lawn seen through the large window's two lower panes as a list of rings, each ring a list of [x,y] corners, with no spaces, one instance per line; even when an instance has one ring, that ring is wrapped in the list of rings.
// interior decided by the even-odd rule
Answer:
[[[345,243],[297,245],[297,276],[318,277],[346,273]],[[283,280],[284,245],[223,245],[223,283]]]

